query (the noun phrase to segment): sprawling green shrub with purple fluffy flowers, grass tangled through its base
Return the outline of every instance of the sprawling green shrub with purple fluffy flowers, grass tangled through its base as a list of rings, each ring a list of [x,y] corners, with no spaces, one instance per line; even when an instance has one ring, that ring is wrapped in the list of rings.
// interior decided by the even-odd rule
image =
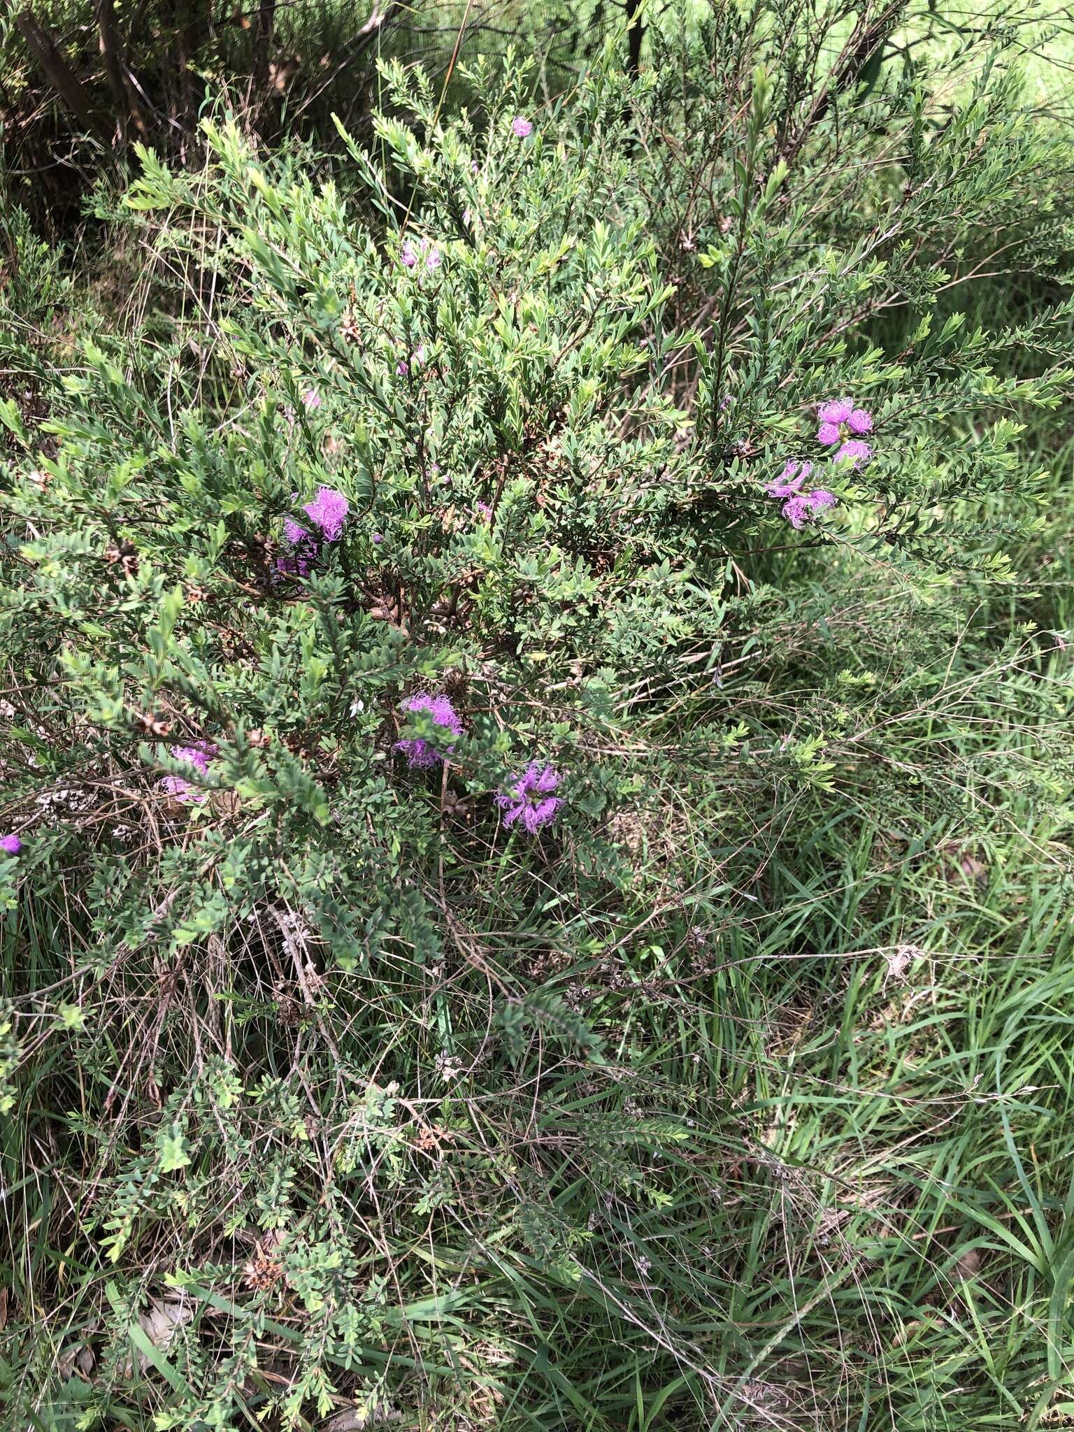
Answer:
[[[924,958],[906,871],[942,905],[1007,788],[1061,818],[1064,735],[978,733],[1047,703],[1028,633],[974,667],[962,626],[1034,521],[1015,415],[1070,384],[1067,309],[934,334],[919,269],[945,216],[1021,225],[1050,140],[1007,79],[799,135],[793,57],[720,23],[682,109],[604,67],[538,115],[511,62],[445,119],[390,67],[411,123],[344,135],[375,223],[231,125],[202,175],[143,150],[188,309],[87,347],[54,447],[4,405],[0,1074],[9,1157],[64,1169],[11,1213],[52,1250],[13,1272],[16,1416],[763,1421],[790,1383],[825,1416],[796,1330],[836,1292],[855,1418],[894,1396],[902,1233],[812,1163],[816,1090],[909,1098],[924,1037],[821,1040],[812,1141],[778,1085],[793,1001],[846,992],[821,954]],[[758,63],[684,274],[637,125],[693,135],[720,46]]]

